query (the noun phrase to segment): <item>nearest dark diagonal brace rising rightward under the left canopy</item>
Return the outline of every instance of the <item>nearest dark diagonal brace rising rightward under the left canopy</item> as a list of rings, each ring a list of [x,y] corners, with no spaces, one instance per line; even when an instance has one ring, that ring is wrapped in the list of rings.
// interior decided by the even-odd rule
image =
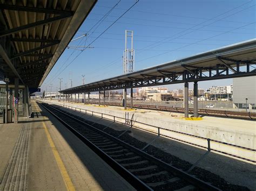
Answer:
[[[47,19],[44,19],[44,20],[39,20],[38,22],[35,22],[35,23],[30,23],[30,24],[26,24],[26,25],[23,25],[23,26],[18,26],[18,27],[13,28],[13,29],[3,30],[3,31],[0,31],[0,37],[4,37],[4,36],[7,36],[9,34],[16,33],[16,32],[22,31],[22,30],[31,29],[31,28],[36,27],[36,26],[41,26],[41,25],[45,25],[45,24],[48,24],[48,23],[52,23],[52,22],[55,22],[56,20],[66,19],[66,18],[69,18],[71,16],[72,15],[60,15],[60,16],[57,16],[57,17],[51,17],[51,18],[47,18]]]

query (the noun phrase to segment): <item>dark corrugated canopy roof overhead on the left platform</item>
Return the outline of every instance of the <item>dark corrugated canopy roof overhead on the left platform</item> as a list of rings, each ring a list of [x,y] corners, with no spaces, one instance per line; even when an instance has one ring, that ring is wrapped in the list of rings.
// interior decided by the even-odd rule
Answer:
[[[97,0],[0,3],[0,80],[40,87]]]

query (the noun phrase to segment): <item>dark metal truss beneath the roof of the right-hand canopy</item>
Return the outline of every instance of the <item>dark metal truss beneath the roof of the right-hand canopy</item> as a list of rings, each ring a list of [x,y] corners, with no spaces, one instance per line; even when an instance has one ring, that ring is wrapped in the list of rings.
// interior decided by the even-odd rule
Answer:
[[[225,57],[216,57],[219,63],[211,67],[195,67],[190,65],[181,65],[183,72],[167,72],[157,70],[158,75],[140,74],[140,77],[127,77],[129,80],[117,79],[102,82],[99,84],[88,84],[84,87],[77,87],[62,90],[64,94],[84,93],[91,91],[117,90],[124,88],[137,88],[147,86],[163,86],[166,84],[198,82],[207,80],[219,80],[233,77],[245,77],[256,75],[256,60],[233,60]],[[246,68],[245,68],[246,66]]]

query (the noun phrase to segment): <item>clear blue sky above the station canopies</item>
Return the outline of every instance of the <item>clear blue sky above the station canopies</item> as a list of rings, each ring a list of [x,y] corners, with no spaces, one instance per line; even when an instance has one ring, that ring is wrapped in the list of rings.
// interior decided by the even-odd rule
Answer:
[[[98,0],[70,45],[88,46],[135,0]],[[247,0],[139,0],[122,18],[84,51],[67,48],[46,77],[42,89],[62,89],[123,74],[125,30],[134,34],[135,70],[255,38],[255,1]],[[96,26],[95,24],[99,22]],[[95,26],[95,27],[93,27]],[[93,28],[92,28],[93,27]],[[81,49],[81,48],[80,48]],[[83,48],[82,48],[83,49]],[[226,86],[232,79],[199,82],[199,88]],[[169,90],[183,84],[167,86]],[[192,88],[192,86],[191,86]]]

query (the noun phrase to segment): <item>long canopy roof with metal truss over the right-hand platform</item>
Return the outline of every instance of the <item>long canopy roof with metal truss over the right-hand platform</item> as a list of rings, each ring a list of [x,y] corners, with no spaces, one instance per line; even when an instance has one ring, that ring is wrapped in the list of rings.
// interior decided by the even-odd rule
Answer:
[[[256,75],[256,39],[213,49],[137,72],[111,77],[60,93],[84,93]]]

